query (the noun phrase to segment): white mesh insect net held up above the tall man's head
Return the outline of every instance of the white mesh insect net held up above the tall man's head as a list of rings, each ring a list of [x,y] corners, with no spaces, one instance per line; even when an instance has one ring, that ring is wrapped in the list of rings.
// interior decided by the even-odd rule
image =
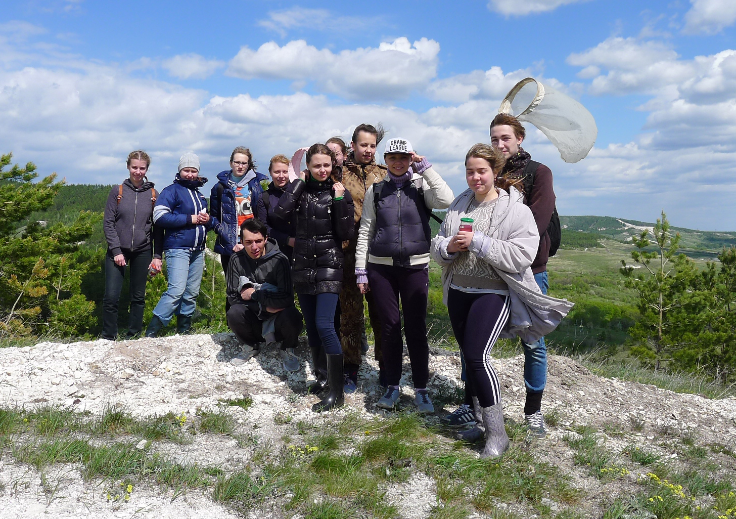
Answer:
[[[575,99],[527,77],[503,98],[498,113],[530,122],[552,141],[565,162],[578,162],[595,144],[598,127],[592,114]]]

